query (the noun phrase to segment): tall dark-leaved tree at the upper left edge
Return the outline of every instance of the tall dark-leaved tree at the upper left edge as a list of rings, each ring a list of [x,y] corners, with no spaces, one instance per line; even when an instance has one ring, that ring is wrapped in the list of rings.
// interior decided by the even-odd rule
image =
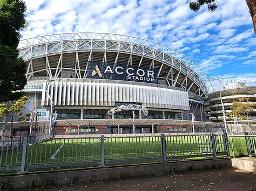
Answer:
[[[17,49],[26,27],[25,11],[21,0],[0,0],[0,103],[17,100],[26,84],[26,63]]]

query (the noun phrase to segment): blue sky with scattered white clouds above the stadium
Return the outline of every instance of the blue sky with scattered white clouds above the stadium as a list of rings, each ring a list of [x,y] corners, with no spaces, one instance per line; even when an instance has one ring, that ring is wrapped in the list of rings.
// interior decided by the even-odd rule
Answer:
[[[245,0],[218,0],[198,13],[186,0],[27,0],[22,39],[65,32],[145,38],[194,61],[208,76],[256,81],[256,34]]]

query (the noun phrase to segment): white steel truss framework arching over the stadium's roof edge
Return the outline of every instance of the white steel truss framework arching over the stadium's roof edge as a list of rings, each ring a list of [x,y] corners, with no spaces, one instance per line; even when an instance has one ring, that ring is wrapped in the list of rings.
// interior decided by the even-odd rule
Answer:
[[[119,53],[130,54],[127,62],[130,65],[132,65],[132,55],[141,56],[139,66],[143,58],[150,58],[152,61],[149,63],[149,67],[154,68],[155,61],[161,63],[158,76],[164,65],[171,67],[166,77],[159,77],[160,80],[165,79],[169,86],[179,84],[182,89],[190,91],[193,84],[196,84],[199,89],[198,95],[208,94],[206,83],[209,83],[209,80],[203,70],[185,55],[150,40],[109,33],[64,33],[24,39],[19,42],[18,48],[19,56],[29,62],[26,72],[28,79],[43,70],[46,70],[50,77],[59,77],[63,69],[72,70],[79,78],[86,78],[87,65],[86,68],[80,67],[79,52],[89,52],[88,62],[91,61],[93,51],[104,52],[103,62],[107,62],[106,52],[116,52],[114,63],[117,63]],[[75,53],[75,67],[63,67],[63,53]],[[50,66],[48,57],[51,55],[59,55],[57,67]],[[33,69],[35,68],[33,60],[38,58],[45,58],[44,69]],[[173,76],[173,69],[178,70],[178,75]],[[186,76],[181,83],[178,82],[180,74]],[[188,84],[188,79],[192,83]]]

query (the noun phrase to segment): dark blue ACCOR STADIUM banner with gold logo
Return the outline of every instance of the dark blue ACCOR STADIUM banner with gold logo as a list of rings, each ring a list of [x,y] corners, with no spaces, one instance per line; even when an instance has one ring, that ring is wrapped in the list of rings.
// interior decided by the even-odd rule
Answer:
[[[131,65],[90,62],[87,78],[157,83],[158,69]]]

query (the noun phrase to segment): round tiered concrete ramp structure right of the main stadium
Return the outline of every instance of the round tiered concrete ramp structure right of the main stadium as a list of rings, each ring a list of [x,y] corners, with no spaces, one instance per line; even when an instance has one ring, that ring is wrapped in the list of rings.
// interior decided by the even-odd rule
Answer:
[[[240,82],[226,84],[220,91],[208,94],[205,102],[205,117],[212,122],[223,121],[223,107],[226,115],[231,112],[230,107],[233,102],[242,97],[248,98],[249,102],[256,104],[256,87]],[[228,120],[227,115],[226,119]],[[248,119],[256,119],[255,109],[248,113]]]

